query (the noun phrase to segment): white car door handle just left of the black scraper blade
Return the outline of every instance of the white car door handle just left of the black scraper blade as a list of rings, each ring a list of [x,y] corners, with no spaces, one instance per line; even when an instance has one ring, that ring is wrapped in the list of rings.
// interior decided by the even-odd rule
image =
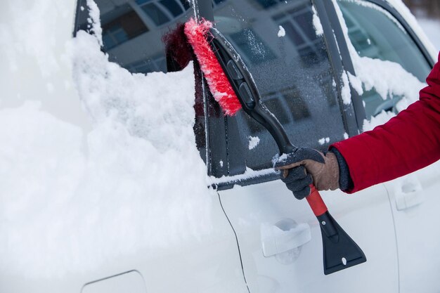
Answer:
[[[292,219],[283,219],[275,225],[261,224],[261,247],[264,256],[273,256],[302,247],[311,240],[308,223],[296,223]]]

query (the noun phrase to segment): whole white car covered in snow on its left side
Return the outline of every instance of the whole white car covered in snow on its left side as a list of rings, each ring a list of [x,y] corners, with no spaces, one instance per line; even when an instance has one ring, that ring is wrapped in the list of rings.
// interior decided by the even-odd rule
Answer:
[[[225,117],[198,66],[195,77],[183,69],[185,46],[163,38],[213,17],[292,143],[326,150],[425,85],[438,52],[400,0],[33,0],[0,11],[0,292],[440,292],[438,162],[354,195],[322,192],[367,258],[324,275],[318,221],[273,171],[271,135],[243,111]],[[151,73],[167,71],[177,72]],[[193,133],[168,133],[179,122],[145,108],[143,93],[194,101],[194,81],[194,110],[176,118],[189,115]],[[189,158],[168,152],[188,145]],[[152,163],[162,155],[172,168]]]

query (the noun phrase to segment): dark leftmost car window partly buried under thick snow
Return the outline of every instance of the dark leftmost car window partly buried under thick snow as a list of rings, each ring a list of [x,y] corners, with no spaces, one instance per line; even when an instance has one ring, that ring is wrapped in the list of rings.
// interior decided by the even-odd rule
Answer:
[[[103,47],[110,61],[131,73],[167,72],[164,36],[194,12],[186,0],[94,0],[98,5]],[[77,3],[75,32],[88,31],[89,8],[86,0]],[[199,76],[198,79],[201,79]],[[197,85],[200,87],[200,84]],[[195,142],[206,162],[205,111],[201,89],[195,97]],[[179,93],[176,93],[179,94]],[[159,97],[158,97],[159,98]]]

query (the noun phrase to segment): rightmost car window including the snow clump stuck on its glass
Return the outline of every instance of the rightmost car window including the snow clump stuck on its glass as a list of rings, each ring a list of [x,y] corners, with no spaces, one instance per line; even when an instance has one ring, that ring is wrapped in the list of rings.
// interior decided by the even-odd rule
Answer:
[[[356,72],[349,82],[365,105],[365,131],[418,100],[430,66],[391,13],[361,0],[333,1]]]

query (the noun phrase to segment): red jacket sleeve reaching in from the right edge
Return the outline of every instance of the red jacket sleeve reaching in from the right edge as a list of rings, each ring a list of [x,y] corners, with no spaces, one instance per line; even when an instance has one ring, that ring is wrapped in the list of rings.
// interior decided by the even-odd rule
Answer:
[[[440,53],[439,53],[440,61]],[[405,82],[405,81],[401,81]],[[330,145],[349,167],[355,193],[440,159],[440,63],[427,77],[420,100],[382,126]]]

